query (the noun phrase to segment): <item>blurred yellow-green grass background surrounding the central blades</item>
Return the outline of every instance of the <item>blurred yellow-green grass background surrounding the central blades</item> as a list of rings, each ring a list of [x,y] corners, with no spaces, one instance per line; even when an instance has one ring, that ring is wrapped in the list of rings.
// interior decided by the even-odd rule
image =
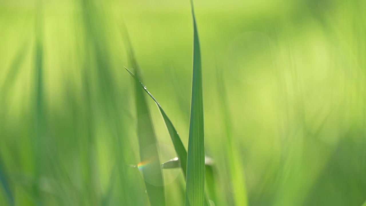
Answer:
[[[238,185],[249,205],[362,205],[366,2],[194,4],[215,205],[238,205]],[[126,167],[139,148],[125,28],[187,148],[189,1],[0,0],[0,205],[149,204]],[[176,154],[147,100],[164,162]],[[179,168],[163,172],[167,205],[183,205]]]

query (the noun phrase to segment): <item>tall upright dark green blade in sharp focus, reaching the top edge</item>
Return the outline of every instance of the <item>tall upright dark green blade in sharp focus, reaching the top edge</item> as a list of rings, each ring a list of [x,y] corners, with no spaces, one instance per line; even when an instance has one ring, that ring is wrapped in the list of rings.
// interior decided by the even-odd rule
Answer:
[[[191,1],[193,17],[193,81],[191,115],[189,125],[186,206],[202,206],[205,197],[205,144],[203,133],[203,97],[201,51],[197,25]]]

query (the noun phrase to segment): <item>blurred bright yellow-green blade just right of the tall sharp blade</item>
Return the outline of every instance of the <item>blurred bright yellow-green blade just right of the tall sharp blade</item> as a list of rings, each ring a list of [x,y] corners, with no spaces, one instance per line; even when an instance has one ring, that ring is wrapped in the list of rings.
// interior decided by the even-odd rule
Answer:
[[[220,108],[223,115],[224,129],[225,129],[225,148],[228,154],[228,169],[231,177],[231,187],[234,191],[234,202],[235,205],[247,205],[247,193],[244,180],[244,170],[242,163],[240,162],[239,151],[232,140],[232,124],[231,118],[228,111],[228,105],[226,102],[225,85],[222,77],[222,73],[217,70],[217,89],[219,91]]]

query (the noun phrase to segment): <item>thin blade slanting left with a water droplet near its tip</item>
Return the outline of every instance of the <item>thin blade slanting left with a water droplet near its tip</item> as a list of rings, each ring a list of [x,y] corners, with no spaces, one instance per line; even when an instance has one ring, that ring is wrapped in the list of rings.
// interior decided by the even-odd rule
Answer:
[[[187,174],[186,173],[187,172],[187,151],[186,151],[186,148],[184,148],[184,145],[182,143],[182,140],[180,140],[180,137],[178,135],[178,132],[175,130],[175,128],[173,126],[173,123],[170,121],[170,119],[168,118],[167,114],[165,114],[163,108],[161,108],[160,104],[157,102],[157,100],[154,98],[154,96],[149,91],[147,91],[145,85],[143,85],[140,80],[136,79],[135,75],[132,74],[132,72],[130,70],[128,70],[126,67],[124,67],[124,68],[128,71],[128,73],[131,74],[131,76],[133,78],[135,78],[136,81],[139,81],[140,86],[145,90],[145,92],[157,104],[157,106],[158,106],[158,108],[160,110],[160,113],[163,116],[165,125],[168,128],[169,135],[170,135],[170,137],[171,137],[171,139],[173,141],[173,146],[174,146],[175,152],[178,155],[179,160],[177,158],[176,161],[179,161],[179,165],[180,165],[180,167],[182,167],[182,170],[183,170],[184,178],[186,178],[186,174]]]

